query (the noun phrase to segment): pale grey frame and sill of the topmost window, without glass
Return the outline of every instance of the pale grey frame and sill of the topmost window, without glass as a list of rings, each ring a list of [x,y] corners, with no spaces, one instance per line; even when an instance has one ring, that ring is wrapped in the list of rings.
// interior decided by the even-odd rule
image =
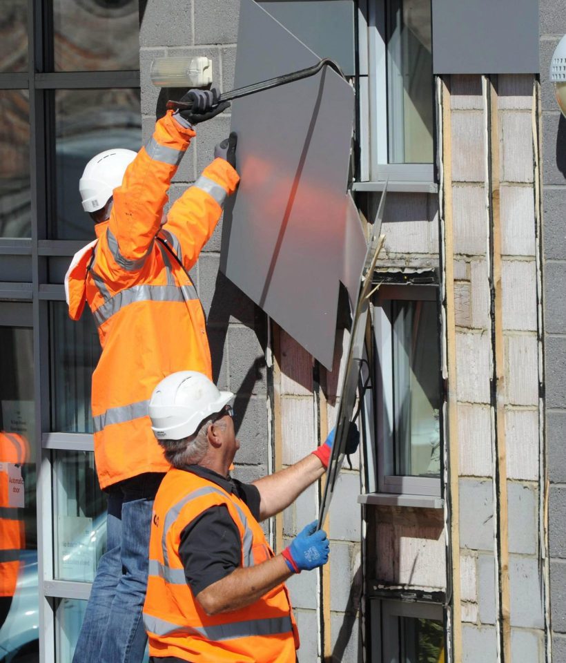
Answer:
[[[433,161],[389,163],[386,6],[388,0],[360,0],[358,9],[358,117],[360,164],[355,191],[438,191],[436,169],[436,86],[433,90]],[[383,100],[385,99],[385,102]]]

